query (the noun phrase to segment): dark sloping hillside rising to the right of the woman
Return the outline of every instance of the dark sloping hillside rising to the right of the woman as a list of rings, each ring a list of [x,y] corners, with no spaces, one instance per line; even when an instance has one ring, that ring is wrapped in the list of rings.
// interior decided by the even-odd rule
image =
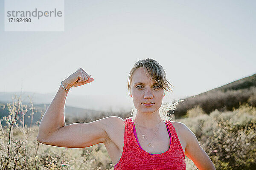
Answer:
[[[186,115],[186,112],[199,105],[205,113],[209,114],[215,109],[219,111],[233,111],[242,103],[256,106],[256,74],[243,79],[230,82],[219,88],[191,96],[180,102],[175,110],[176,117]],[[172,112],[170,112],[172,113]]]

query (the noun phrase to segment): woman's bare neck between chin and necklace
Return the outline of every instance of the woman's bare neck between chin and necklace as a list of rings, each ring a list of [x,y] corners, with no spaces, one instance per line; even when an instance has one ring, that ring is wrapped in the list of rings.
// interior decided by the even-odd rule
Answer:
[[[145,128],[148,130],[154,130],[158,128],[158,126],[162,123],[162,119],[159,115],[159,110],[153,113],[142,113],[137,111],[135,116],[135,121],[137,125],[141,128]]]

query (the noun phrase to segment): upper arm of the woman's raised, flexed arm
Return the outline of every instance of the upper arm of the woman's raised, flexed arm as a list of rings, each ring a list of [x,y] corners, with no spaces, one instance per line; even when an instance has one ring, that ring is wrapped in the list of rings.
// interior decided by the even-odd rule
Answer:
[[[89,147],[104,143],[108,139],[108,128],[114,125],[117,116],[109,116],[89,123],[73,123],[60,127],[45,139],[37,139],[43,144],[59,147]]]

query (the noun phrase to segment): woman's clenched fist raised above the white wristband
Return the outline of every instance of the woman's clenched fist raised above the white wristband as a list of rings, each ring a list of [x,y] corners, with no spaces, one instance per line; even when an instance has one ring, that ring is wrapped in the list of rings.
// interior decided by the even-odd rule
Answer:
[[[62,84],[65,88],[70,89],[71,87],[77,87],[92,82],[94,79],[90,77],[90,74],[87,74],[82,68],[79,68],[75,73],[71,74],[70,77],[65,79]]]

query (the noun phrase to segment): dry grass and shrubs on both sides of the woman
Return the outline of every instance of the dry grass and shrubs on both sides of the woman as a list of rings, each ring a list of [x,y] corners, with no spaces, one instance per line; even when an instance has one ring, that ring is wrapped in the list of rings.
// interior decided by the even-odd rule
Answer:
[[[3,106],[5,107],[5,106]],[[105,145],[87,148],[64,148],[44,145],[36,140],[38,126],[26,127],[23,117],[31,107],[23,106],[20,99],[8,103],[9,116],[3,117],[7,127],[0,125],[0,169],[6,170],[113,170]],[[23,117],[17,117],[17,113]],[[42,111],[43,115],[44,111]],[[124,113],[127,114],[127,113]],[[31,119],[33,116],[31,115]],[[42,117],[41,115],[41,117]],[[205,114],[200,106],[187,111],[183,119],[198,137],[217,170],[256,169],[256,108],[244,104],[233,111],[217,109]],[[95,118],[100,119],[100,118]],[[20,122],[21,126],[16,122]],[[40,120],[38,120],[37,125]],[[84,120],[76,120],[84,122]],[[72,122],[70,122],[72,123]],[[187,170],[197,168],[186,158]]]

